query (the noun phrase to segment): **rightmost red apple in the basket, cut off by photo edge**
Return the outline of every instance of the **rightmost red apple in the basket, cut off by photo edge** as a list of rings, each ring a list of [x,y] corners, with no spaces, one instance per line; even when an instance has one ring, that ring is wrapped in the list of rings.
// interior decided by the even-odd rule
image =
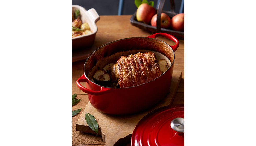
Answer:
[[[174,31],[184,32],[184,13],[179,13],[172,17],[171,27]]]

